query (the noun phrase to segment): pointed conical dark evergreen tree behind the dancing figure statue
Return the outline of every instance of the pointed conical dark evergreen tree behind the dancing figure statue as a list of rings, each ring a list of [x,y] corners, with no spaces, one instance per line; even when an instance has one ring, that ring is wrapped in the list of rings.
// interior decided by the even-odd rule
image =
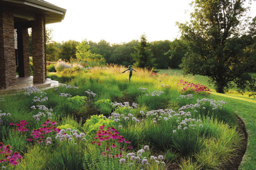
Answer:
[[[155,59],[153,58],[149,46],[150,44],[147,42],[146,35],[143,34],[140,37],[139,46],[134,47],[137,51],[132,54],[135,61],[133,65],[135,67],[152,69],[156,66],[156,64],[154,64]]]

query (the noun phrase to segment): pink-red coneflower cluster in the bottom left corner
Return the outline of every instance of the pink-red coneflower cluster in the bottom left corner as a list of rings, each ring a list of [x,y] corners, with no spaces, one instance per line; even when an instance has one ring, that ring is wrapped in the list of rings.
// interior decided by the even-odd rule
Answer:
[[[18,159],[21,159],[22,156],[18,152],[12,153],[10,145],[4,146],[3,142],[0,142],[0,154],[5,154],[4,159],[0,159],[0,163],[5,163],[5,164],[12,164],[12,165],[18,165]]]

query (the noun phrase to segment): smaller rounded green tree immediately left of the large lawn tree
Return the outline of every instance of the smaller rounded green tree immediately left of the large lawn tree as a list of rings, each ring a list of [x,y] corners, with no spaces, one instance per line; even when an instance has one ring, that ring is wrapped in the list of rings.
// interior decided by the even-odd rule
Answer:
[[[188,43],[183,39],[175,39],[170,43],[170,50],[166,53],[170,58],[171,68],[180,68],[182,58],[188,52]]]

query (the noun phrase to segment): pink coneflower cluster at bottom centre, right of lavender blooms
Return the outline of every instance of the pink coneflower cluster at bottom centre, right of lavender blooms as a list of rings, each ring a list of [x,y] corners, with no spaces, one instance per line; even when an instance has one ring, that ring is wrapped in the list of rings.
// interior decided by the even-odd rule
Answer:
[[[108,141],[108,143],[112,143],[112,145],[109,147],[109,146],[106,146],[106,149],[104,151],[106,152],[102,152],[102,156],[103,157],[115,157],[115,158],[119,158],[119,157],[122,157],[123,154],[120,152],[120,153],[116,153],[115,155],[111,154],[110,151],[114,148],[116,148],[116,144],[113,143],[114,141],[113,140],[117,140],[117,142],[125,142],[125,143],[131,143],[129,141],[125,141],[124,137],[121,136],[121,135],[118,135],[119,132],[114,128],[110,128],[110,127],[107,127],[106,130],[104,130],[105,128],[105,125],[102,125],[99,127],[99,131],[95,134],[97,137],[95,137],[94,139],[98,139],[98,142],[97,141],[93,141],[91,144],[94,144],[96,143],[98,146],[101,146],[101,142],[103,141],[108,141],[108,140],[112,140],[111,142]],[[128,147],[129,149],[132,149],[132,146],[129,146]],[[118,148],[119,151],[123,151],[123,148],[122,147],[119,147]]]

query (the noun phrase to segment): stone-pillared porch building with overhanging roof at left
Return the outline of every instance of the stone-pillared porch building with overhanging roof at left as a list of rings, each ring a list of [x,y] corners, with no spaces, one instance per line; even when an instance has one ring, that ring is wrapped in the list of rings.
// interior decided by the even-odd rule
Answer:
[[[16,64],[19,77],[30,76],[28,28],[32,30],[33,83],[45,82],[45,24],[61,22],[65,12],[44,0],[0,0],[0,88],[16,87]]]

